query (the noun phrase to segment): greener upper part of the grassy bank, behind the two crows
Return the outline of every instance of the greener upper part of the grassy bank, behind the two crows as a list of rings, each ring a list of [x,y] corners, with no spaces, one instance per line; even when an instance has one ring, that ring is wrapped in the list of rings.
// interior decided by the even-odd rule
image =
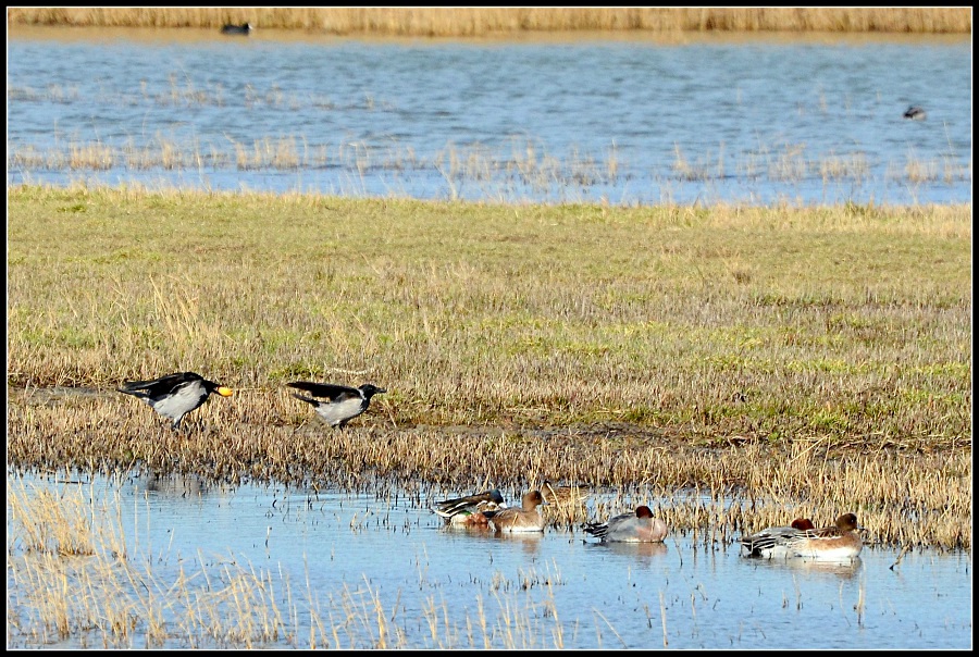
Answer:
[[[970,208],[9,190],[11,385],[372,380],[430,424],[970,433]],[[84,211],[79,211],[84,208]],[[733,273],[732,273],[733,272]],[[740,273],[739,273],[740,272]],[[909,399],[887,414],[855,397]],[[810,416],[814,401],[827,407]],[[485,409],[497,409],[486,414]],[[863,407],[860,407],[863,408]],[[640,410],[636,410],[640,409]],[[658,409],[657,413],[649,410]],[[397,412],[397,409],[393,409]],[[554,416],[554,417],[552,417]],[[920,429],[908,435],[907,426]]]

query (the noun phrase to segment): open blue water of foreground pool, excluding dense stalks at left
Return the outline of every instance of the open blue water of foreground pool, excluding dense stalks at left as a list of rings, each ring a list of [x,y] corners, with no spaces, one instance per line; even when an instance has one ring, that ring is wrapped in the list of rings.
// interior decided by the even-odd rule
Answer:
[[[971,647],[968,553],[912,550],[899,562],[895,549],[865,547],[852,565],[749,560],[736,546],[705,548],[677,532],[662,545],[605,546],[580,531],[497,537],[447,530],[431,500],[414,493],[232,488],[145,474],[72,479],[23,482],[33,495],[80,495],[94,508],[116,500],[128,561],[151,569],[161,592],[201,565],[211,590],[227,570],[265,573],[263,590],[275,592],[269,597],[294,609],[284,623],[293,631],[258,646],[309,647],[318,636],[315,645],[332,647]],[[10,518],[8,500],[8,536]],[[9,543],[8,553],[9,616],[29,618],[32,598],[11,578],[23,546]],[[327,630],[311,629],[311,618]],[[179,618],[168,622],[181,627]],[[9,645],[102,643],[91,633],[38,642],[26,627],[9,623]],[[153,645],[138,629],[126,642]],[[236,645],[187,632],[163,645],[209,643]]]

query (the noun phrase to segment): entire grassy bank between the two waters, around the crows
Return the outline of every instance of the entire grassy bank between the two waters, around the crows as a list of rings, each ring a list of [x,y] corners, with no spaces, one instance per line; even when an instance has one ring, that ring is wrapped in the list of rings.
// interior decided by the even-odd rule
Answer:
[[[699,486],[969,543],[970,206],[8,200],[11,463]],[[179,370],[237,391],[184,438],[114,392]],[[340,435],[296,379],[389,392]],[[728,531],[780,510],[682,512]]]

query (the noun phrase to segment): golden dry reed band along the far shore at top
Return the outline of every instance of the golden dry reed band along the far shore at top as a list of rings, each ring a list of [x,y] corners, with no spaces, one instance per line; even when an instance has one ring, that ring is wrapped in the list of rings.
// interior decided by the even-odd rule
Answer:
[[[524,32],[830,32],[968,34],[964,8],[9,8],[8,24],[257,28],[460,37]]]

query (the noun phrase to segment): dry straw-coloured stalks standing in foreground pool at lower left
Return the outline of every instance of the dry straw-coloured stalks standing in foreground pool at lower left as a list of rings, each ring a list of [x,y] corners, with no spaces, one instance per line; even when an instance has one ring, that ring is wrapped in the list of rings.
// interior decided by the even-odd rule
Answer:
[[[256,569],[234,555],[220,557],[216,567],[198,555],[164,575],[163,553],[119,549],[123,509],[111,491],[65,484],[55,496],[9,476],[8,500],[15,516],[7,554],[9,646],[563,647],[556,613],[537,612],[555,606],[549,567],[515,580],[497,573],[488,591],[493,611],[482,596],[474,611],[433,598],[424,611],[429,634],[409,635],[404,623],[411,619],[388,611],[367,578],[335,593],[308,590],[300,600],[289,573]],[[30,528],[38,524],[50,526],[57,541],[34,545]],[[78,533],[90,546],[84,556],[72,551]],[[535,587],[540,595],[530,594]]]

